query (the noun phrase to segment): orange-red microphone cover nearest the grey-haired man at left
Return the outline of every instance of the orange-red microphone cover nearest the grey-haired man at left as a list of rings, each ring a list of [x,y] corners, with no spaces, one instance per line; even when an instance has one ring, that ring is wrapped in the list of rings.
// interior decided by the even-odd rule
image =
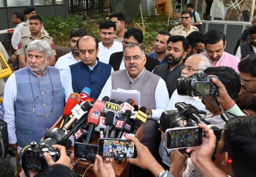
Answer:
[[[63,115],[65,117],[69,116],[72,114],[71,110],[73,109],[73,107],[75,107],[75,105],[79,104],[80,102],[80,96],[78,93],[71,93],[69,95],[69,98],[67,99],[67,103],[65,105],[65,108],[63,110]]]

